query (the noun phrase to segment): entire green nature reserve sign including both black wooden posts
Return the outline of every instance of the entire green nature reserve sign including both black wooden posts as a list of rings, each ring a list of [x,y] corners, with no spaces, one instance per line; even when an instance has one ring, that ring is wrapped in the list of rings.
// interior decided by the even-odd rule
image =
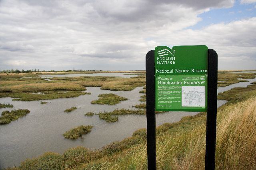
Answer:
[[[145,61],[148,170],[156,170],[155,111],[207,111],[205,169],[214,170],[218,54],[205,45],[163,46]]]

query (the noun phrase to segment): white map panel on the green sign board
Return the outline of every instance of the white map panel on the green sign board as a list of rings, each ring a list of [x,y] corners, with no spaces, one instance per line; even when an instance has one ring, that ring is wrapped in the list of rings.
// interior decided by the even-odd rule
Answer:
[[[205,107],[205,86],[182,86],[182,107]]]

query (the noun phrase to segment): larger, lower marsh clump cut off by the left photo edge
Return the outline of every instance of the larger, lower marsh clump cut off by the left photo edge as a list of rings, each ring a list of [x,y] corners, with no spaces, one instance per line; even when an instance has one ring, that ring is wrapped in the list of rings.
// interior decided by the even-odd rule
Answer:
[[[20,117],[30,113],[28,109],[17,109],[12,111],[3,111],[2,116],[0,117],[0,125],[11,123]]]

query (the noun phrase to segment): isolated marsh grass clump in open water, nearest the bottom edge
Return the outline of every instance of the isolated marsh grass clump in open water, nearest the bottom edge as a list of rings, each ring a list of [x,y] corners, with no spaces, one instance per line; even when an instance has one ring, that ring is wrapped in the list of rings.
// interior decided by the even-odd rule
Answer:
[[[69,131],[66,131],[63,136],[65,138],[69,139],[77,139],[81,137],[83,134],[87,134],[91,131],[92,126],[91,125],[81,125],[75,128],[70,129]]]

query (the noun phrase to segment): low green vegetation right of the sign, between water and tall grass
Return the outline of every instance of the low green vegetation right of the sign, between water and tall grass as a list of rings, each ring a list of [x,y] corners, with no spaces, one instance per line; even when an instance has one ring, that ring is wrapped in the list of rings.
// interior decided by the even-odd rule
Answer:
[[[252,95],[256,95],[256,82],[251,84],[252,85],[248,85],[247,87],[235,87],[228,91],[218,93],[218,99],[237,102]]]

